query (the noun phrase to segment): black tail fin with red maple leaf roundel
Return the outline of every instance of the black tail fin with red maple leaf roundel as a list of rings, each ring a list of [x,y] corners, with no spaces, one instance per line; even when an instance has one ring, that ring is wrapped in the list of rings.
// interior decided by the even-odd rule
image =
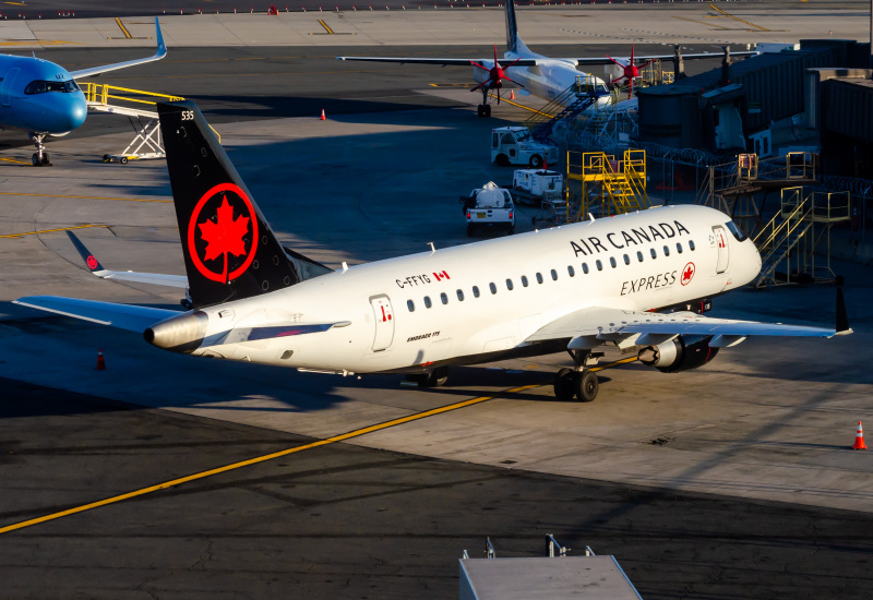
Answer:
[[[195,308],[301,280],[212,129],[191,101],[158,104],[179,236]]]

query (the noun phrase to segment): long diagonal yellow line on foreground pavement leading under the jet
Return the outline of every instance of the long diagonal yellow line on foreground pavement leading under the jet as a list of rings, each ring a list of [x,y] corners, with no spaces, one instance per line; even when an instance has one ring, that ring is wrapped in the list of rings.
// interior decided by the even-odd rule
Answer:
[[[624,364],[627,362],[632,362],[636,360],[636,357],[626,358],[623,360],[619,360],[615,362],[611,362],[609,364],[605,364],[602,367],[595,367],[591,371],[602,371],[603,369],[608,369],[614,367],[617,364]],[[519,392],[525,392],[527,389],[531,389],[534,387],[541,387],[546,385],[545,383],[535,383],[530,385],[522,385],[518,387],[513,387],[511,389],[506,389],[501,394],[517,394]],[[207,477],[212,477],[214,475],[220,475],[224,472],[232,471],[236,469],[241,469],[242,467],[250,467],[252,465],[258,465],[260,463],[265,463],[267,460],[273,460],[274,458],[279,458],[282,456],[288,456],[289,454],[297,454],[299,452],[319,448],[322,446],[327,446],[330,444],[336,444],[337,442],[345,442],[346,440],[351,440],[352,437],[360,437],[361,435],[367,435],[368,433],[373,433],[376,431],[382,431],[384,429],[402,425],[404,423],[410,423],[412,421],[420,421],[421,419],[427,419],[428,417],[434,417],[436,415],[443,415],[445,412],[450,412],[452,410],[458,410],[462,408],[466,408],[468,406],[475,406],[478,404],[486,403],[488,400],[493,400],[497,398],[498,395],[493,396],[479,396],[478,398],[470,398],[469,400],[462,400],[459,403],[450,404],[446,406],[442,406],[439,408],[433,408],[430,410],[423,410],[421,412],[415,412],[412,415],[408,415],[406,417],[400,417],[398,419],[392,419],[390,421],[383,421],[381,423],[376,423],[373,425],[364,427],[361,429],[356,429],[354,431],[349,431],[348,433],[342,433],[339,435],[334,435],[333,437],[327,437],[324,440],[318,440],[316,442],[312,442],[309,444],[303,444],[302,446],[295,446],[292,448],[287,448],[279,452],[274,452],[272,454],[265,454],[263,456],[256,456],[254,458],[249,458],[248,460],[240,460],[239,463],[232,463],[230,465],[225,465],[223,467],[217,467],[215,469],[210,469],[207,471],[201,471],[199,473],[189,475],[186,477],[180,477],[178,479],[172,479],[170,481],[165,481],[163,483],[157,483],[155,485],[150,485],[147,488],[142,488],[140,490],[134,490],[132,492],[128,492],[125,494],[120,494],[111,497],[107,497],[104,500],[99,500],[97,502],[92,502],[88,504],[82,504],[80,506],[75,506],[73,508],[68,508],[67,511],[60,511],[58,513],[51,513],[49,515],[44,515],[41,517],[36,517],[28,520],[23,520],[21,523],[15,523],[12,525],[8,525],[5,527],[0,527],[0,535],[9,533],[10,531],[16,531],[19,529],[24,529],[25,527],[32,527],[34,525],[38,525],[40,523],[46,523],[49,520],[59,519],[62,517],[68,517],[70,515],[76,515],[79,513],[84,513],[86,511],[92,511],[94,508],[99,508],[100,506],[107,506],[109,504],[115,504],[117,502],[121,502],[124,500],[130,500],[132,497],[143,496],[145,494],[150,494],[152,492],[157,492],[159,490],[166,490],[167,488],[172,488],[175,485],[181,485],[182,483],[188,483],[190,481],[196,481],[199,479],[205,479]]]

